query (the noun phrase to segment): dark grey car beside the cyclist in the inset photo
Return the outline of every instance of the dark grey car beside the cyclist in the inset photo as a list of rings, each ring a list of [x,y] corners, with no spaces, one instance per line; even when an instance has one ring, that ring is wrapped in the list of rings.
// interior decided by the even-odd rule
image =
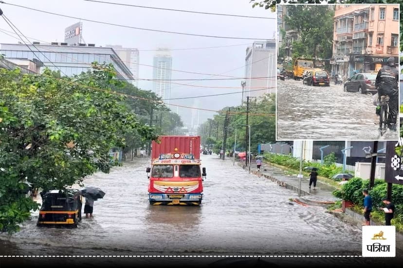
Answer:
[[[376,76],[376,73],[356,73],[348,78],[344,84],[344,91],[374,95],[378,92],[375,88]]]

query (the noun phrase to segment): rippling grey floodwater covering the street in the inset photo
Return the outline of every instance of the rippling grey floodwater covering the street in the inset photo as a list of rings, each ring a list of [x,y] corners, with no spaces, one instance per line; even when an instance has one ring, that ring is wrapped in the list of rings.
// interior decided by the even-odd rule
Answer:
[[[309,86],[302,80],[278,81],[277,139],[399,139],[399,132],[387,131],[380,136],[375,107],[372,96],[344,92],[343,85]]]

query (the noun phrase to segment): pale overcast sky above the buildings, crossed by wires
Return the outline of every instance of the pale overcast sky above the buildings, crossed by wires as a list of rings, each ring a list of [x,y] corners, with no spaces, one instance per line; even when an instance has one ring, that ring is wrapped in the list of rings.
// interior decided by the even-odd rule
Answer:
[[[110,2],[128,3],[183,9],[198,12],[225,13],[254,17],[275,17],[275,13],[264,8],[252,8],[249,0],[109,0]],[[139,28],[165,30],[172,32],[196,33],[206,35],[234,36],[243,38],[275,37],[275,19],[243,18],[191,14],[176,11],[162,11],[138,7],[118,6],[88,2],[85,0],[5,0],[18,5],[28,6],[49,12],[61,13],[74,17],[108,21]],[[4,15],[13,22],[26,36],[48,42],[64,41],[64,29],[78,22],[77,19],[48,15],[37,11],[30,11],[19,7],[0,4]],[[0,29],[10,31],[9,26],[0,19]],[[199,50],[172,50],[172,69],[198,73],[231,75],[244,77],[245,50],[253,40],[222,39],[198,36],[187,36],[171,33],[157,33],[134,30],[123,27],[109,26],[99,23],[83,21],[83,38],[86,43],[96,46],[122,45],[140,50],[140,64],[153,64],[154,50],[158,47],[169,49],[203,48],[216,46],[239,45],[233,47],[199,49]],[[0,32],[0,43],[16,43],[17,40]],[[236,69],[238,68],[238,69]],[[236,70],[233,70],[236,69]],[[230,71],[232,70],[232,71]],[[152,68],[139,67],[139,78],[152,79]],[[223,78],[209,77],[172,71],[172,79],[202,79]],[[240,80],[227,81],[185,81],[177,82],[202,86],[239,87],[234,89],[203,88],[172,84],[171,98],[191,97],[241,91]],[[152,82],[140,81],[139,87],[145,90],[152,89]],[[206,97],[198,99],[176,101],[172,103],[186,106],[199,105],[201,108],[220,110],[225,106],[239,105],[241,94]],[[177,111],[176,106],[170,106]],[[190,124],[191,109],[178,109],[185,124]],[[214,115],[213,112],[200,111],[200,123]]]

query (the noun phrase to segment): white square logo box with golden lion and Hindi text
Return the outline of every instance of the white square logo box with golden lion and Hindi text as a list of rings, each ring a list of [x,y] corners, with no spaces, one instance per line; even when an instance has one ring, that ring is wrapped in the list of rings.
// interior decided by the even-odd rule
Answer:
[[[395,226],[363,226],[363,257],[396,257]]]

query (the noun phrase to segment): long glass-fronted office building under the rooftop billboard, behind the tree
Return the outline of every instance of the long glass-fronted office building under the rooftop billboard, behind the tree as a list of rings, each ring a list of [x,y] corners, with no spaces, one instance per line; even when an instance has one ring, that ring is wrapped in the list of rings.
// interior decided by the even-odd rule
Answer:
[[[37,59],[44,65],[41,70],[45,67],[55,71],[60,70],[62,76],[73,76],[86,72],[91,68],[92,62],[95,61],[98,63],[111,63],[116,69],[118,79],[127,79],[130,80],[129,82],[134,79],[130,69],[112,48],[95,47],[91,44],[90,46],[84,44],[80,46],[60,44],[35,44],[35,46],[29,45],[30,48],[24,44],[1,44],[0,54],[3,54],[4,58],[9,61],[13,61],[13,59]]]

